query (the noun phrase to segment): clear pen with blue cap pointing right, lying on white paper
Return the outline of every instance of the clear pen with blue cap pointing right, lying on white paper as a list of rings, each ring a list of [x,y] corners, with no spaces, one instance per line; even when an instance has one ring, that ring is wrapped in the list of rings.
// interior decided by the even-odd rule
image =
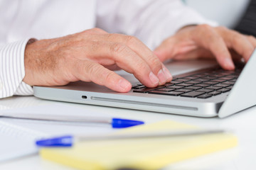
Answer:
[[[19,118],[28,120],[45,120],[68,123],[105,123],[112,125],[112,128],[127,128],[134,125],[142,125],[144,122],[139,120],[128,120],[122,118],[107,118],[93,116],[78,116],[78,115],[50,115],[50,114],[26,114],[26,113],[6,113],[1,114],[4,118]]]

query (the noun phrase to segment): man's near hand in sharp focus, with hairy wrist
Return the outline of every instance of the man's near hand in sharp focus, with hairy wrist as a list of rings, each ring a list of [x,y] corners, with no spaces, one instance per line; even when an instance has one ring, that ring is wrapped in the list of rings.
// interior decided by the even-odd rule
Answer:
[[[31,86],[93,81],[114,91],[127,92],[132,87],[129,81],[110,70],[117,67],[134,74],[149,87],[172,79],[154,52],[137,38],[94,28],[27,45],[23,81]]]

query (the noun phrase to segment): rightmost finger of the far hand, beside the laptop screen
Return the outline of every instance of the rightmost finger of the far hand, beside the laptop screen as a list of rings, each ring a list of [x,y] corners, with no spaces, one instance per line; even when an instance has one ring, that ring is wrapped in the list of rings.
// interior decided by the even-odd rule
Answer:
[[[220,32],[220,35],[222,35],[228,47],[238,52],[238,54],[245,59],[245,62],[250,59],[255,47],[244,35],[235,30],[228,30],[227,28],[217,28],[217,30]]]

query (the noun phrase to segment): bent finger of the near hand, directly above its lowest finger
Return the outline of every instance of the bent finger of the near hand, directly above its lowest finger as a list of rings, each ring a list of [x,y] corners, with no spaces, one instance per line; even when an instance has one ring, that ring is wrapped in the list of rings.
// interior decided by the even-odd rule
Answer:
[[[151,71],[149,65],[131,50],[127,45],[116,42],[97,42],[93,47],[84,48],[84,53],[94,62],[105,66],[117,64],[118,67],[134,76],[145,86],[154,87],[159,85],[159,79]]]

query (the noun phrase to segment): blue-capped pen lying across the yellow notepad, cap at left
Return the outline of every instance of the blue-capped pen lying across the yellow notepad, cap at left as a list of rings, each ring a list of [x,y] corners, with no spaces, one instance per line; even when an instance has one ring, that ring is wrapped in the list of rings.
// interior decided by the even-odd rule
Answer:
[[[90,141],[90,140],[122,140],[131,138],[144,138],[144,137],[177,137],[184,135],[203,135],[213,133],[223,133],[224,130],[220,129],[184,129],[184,130],[159,130],[154,132],[136,132],[124,134],[110,134],[110,135],[65,135],[60,137],[52,137],[43,140],[37,140],[38,147],[72,147],[75,142]]]

